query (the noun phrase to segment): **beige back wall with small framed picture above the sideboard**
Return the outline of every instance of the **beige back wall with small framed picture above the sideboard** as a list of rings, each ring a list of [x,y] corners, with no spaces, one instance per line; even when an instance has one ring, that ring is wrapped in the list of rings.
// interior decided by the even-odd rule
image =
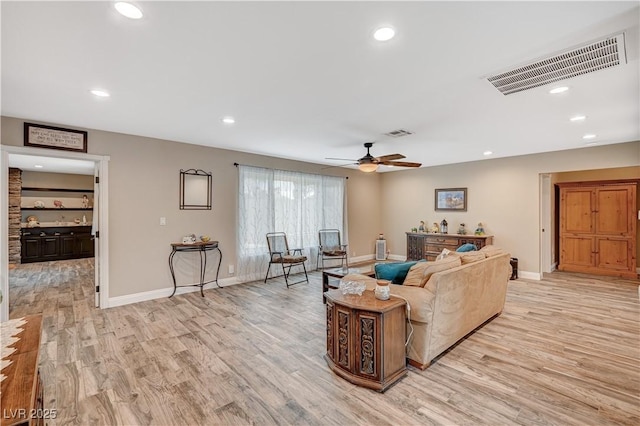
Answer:
[[[382,176],[383,232],[392,253],[406,254],[405,232],[447,219],[472,231],[482,222],[494,243],[519,259],[522,271],[540,271],[540,174],[630,168],[640,164],[640,142],[476,161]],[[434,211],[436,188],[466,187],[466,212]],[[552,191],[553,192],[553,191]]]

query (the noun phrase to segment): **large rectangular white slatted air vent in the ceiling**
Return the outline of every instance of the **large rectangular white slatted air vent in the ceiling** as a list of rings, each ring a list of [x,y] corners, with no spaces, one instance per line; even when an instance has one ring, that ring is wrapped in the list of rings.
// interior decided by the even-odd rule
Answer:
[[[503,95],[626,63],[624,33],[487,77]]]

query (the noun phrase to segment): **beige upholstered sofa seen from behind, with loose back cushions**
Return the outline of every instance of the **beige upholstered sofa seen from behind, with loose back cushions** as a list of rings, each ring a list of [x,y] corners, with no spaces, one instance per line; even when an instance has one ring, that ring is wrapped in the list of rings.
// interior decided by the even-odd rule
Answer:
[[[390,284],[391,295],[410,306],[411,333],[407,358],[425,369],[431,361],[504,307],[510,277],[509,253],[487,246],[477,252],[451,253],[436,262],[411,267],[404,285]],[[373,290],[376,280],[351,274],[344,280],[363,281]]]

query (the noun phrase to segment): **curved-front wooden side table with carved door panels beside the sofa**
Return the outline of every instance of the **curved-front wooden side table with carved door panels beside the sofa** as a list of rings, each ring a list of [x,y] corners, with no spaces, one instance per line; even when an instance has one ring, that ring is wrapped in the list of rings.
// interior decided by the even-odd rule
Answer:
[[[370,290],[362,296],[330,290],[325,296],[325,360],[334,373],[378,392],[407,374],[403,299],[378,300]]]

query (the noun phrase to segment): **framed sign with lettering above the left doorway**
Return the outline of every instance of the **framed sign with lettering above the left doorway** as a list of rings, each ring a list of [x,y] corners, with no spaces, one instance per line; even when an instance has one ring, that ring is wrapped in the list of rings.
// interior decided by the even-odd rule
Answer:
[[[87,132],[25,122],[24,146],[87,152]]]

